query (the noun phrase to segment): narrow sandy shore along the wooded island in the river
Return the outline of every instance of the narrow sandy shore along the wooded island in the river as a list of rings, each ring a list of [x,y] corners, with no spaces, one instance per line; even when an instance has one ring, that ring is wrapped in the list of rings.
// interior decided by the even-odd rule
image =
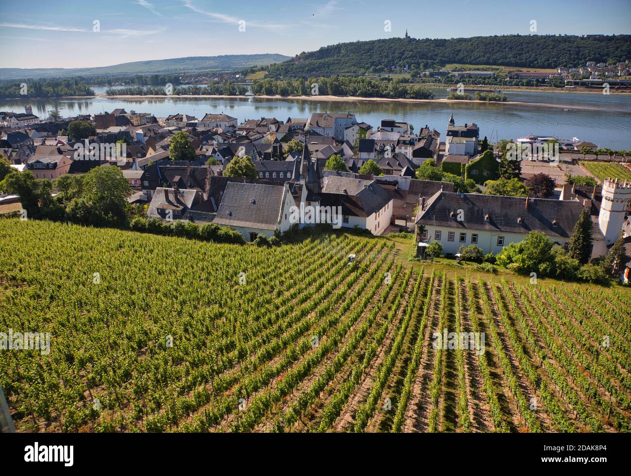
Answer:
[[[271,99],[271,100],[298,100],[298,101],[331,101],[331,102],[389,102],[389,103],[416,103],[416,104],[437,104],[437,103],[468,103],[468,104],[490,104],[490,105],[507,105],[507,106],[535,106],[535,107],[551,107],[567,110],[604,110],[603,107],[595,106],[576,106],[565,104],[549,104],[538,102],[522,102],[522,101],[481,101],[481,100],[461,100],[461,99],[411,99],[411,98],[362,98],[360,96],[278,96],[278,95],[261,95],[261,96],[227,96],[227,95],[118,95],[107,96],[98,95],[105,99],[122,99],[122,100],[141,100],[141,99],[167,99],[167,98],[203,98],[203,99]],[[612,110],[607,108],[607,110]],[[627,112],[627,111],[619,111]]]

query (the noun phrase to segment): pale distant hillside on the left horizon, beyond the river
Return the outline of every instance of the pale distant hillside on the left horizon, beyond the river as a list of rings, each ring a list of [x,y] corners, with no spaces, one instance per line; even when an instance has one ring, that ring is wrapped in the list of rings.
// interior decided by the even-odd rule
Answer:
[[[155,59],[93,68],[0,68],[0,79],[68,78],[73,76],[109,76],[114,74],[196,73],[223,69],[239,70],[289,59],[281,54],[191,56],[186,58]]]

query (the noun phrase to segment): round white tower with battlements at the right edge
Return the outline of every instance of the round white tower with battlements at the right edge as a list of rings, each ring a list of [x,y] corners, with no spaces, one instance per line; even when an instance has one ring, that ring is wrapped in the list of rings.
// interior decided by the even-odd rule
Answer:
[[[598,228],[603,232],[604,243],[609,246],[618,239],[622,223],[631,202],[631,182],[618,178],[605,178],[603,201],[598,214]]]

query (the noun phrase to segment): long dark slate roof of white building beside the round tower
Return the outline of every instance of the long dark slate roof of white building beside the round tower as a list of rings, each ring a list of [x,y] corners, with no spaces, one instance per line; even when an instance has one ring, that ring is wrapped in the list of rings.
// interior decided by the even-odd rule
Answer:
[[[543,231],[546,235],[562,238],[572,235],[583,209],[581,203],[550,199],[528,200],[526,209],[526,199],[522,197],[437,192],[426,204],[425,211],[420,212],[416,223],[505,233]],[[458,210],[464,211],[464,221],[456,221],[456,218],[451,217],[451,213]]]

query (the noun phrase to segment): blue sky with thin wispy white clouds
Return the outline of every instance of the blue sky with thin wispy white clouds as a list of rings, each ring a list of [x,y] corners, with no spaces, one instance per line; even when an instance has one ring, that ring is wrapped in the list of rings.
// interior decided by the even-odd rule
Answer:
[[[528,35],[531,20],[541,35],[631,33],[631,0],[0,0],[0,67],[295,55],[406,28],[415,38]]]

